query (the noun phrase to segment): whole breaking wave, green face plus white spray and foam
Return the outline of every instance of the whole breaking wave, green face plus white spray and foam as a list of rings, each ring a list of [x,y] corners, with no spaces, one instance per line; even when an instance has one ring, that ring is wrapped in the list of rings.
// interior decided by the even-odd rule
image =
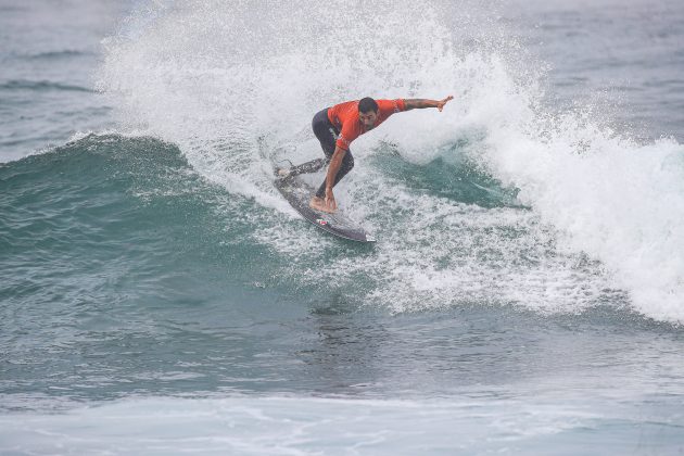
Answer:
[[[90,277],[86,250],[121,280],[147,271],[160,299],[179,263],[208,257],[237,287],[304,301],[326,291],[398,313],[608,304],[684,319],[676,141],[637,143],[588,107],[552,112],[543,65],[474,4],[248,3],[159,3],[105,41],[98,89],[145,136],[89,136],[4,165],[16,208],[4,245],[18,255],[8,262],[30,267],[17,245],[42,233],[56,249],[47,262],[81,265],[84,283],[112,299],[116,280]],[[271,157],[320,155],[308,125],[321,107],[447,93],[443,113],[396,115],[354,143],[357,166],[335,192],[380,239],[373,249],[322,236],[274,191]],[[43,215],[36,226],[22,221],[22,194]],[[30,289],[22,280],[5,292]]]

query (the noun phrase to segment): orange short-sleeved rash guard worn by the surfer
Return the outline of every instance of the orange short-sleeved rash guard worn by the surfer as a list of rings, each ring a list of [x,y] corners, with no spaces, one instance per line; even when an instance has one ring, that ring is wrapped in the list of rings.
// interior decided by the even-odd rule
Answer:
[[[378,103],[378,119],[373,129],[394,113],[406,111],[404,100],[376,100]],[[353,140],[367,132],[366,126],[358,118],[358,100],[335,104],[328,109],[328,119],[340,130],[335,145],[345,151],[350,150]]]

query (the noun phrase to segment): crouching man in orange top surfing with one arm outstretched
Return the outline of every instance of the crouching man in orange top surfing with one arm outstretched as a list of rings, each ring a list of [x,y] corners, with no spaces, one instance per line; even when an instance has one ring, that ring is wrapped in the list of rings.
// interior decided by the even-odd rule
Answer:
[[[326,107],[318,112],[312,121],[314,135],[320,141],[326,159],[314,160],[289,169],[279,169],[278,175],[287,177],[314,173],[329,163],[326,179],[312,198],[309,207],[333,213],[338,204],[334,201],[332,188],[354,167],[354,157],[350,150],[352,141],[382,124],[394,113],[425,107],[436,107],[441,112],[444,105],[453,99],[452,96],[443,100],[373,100],[367,97],[358,101],[346,101],[332,107]]]

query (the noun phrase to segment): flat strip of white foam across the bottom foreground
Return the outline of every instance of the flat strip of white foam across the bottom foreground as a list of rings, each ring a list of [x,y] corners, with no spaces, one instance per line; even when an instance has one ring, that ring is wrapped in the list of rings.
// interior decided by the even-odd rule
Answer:
[[[676,453],[682,418],[586,391],[448,400],[145,397],[0,415],[2,454]],[[645,420],[645,417],[648,419]],[[637,427],[639,432],[634,432]]]

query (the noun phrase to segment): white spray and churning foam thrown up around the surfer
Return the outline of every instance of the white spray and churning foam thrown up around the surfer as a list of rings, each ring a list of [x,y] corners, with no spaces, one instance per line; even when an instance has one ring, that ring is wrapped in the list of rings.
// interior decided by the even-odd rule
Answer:
[[[365,297],[397,312],[471,301],[579,312],[622,288],[644,315],[684,321],[682,145],[637,144],[588,111],[542,107],[544,64],[476,4],[188,1],[150,11],[105,41],[98,87],[124,123],[277,210],[254,236],[296,262],[297,280],[368,276]],[[269,151],[319,156],[311,117],[339,101],[449,93],[443,113],[397,115],[354,143],[357,166],[337,194],[381,241],[372,255],[326,267],[321,252],[335,244],[283,221],[292,213],[271,188]],[[465,155],[518,187],[533,212],[411,189],[370,168],[379,140],[414,164]]]

